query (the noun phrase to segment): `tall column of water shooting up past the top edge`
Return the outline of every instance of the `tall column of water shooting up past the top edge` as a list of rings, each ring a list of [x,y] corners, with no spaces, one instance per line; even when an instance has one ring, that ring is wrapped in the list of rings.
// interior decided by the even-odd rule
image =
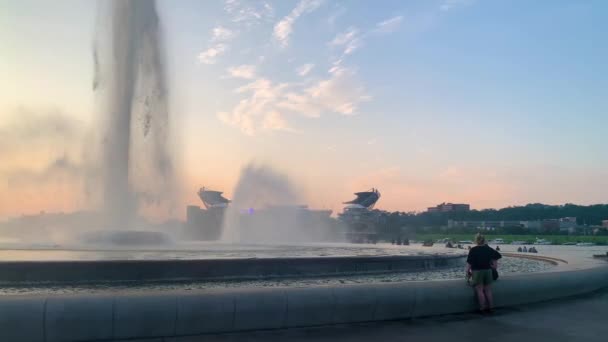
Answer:
[[[101,191],[106,224],[132,223],[171,193],[169,110],[156,3],[99,3],[93,89],[101,100]]]

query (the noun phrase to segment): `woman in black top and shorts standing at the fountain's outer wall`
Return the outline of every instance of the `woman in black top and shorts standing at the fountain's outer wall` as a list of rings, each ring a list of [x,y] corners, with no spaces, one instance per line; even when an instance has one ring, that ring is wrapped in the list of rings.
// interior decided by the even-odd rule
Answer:
[[[502,255],[486,244],[486,239],[481,234],[475,236],[477,246],[469,250],[467,257],[467,275],[472,277],[472,285],[475,286],[479,311],[491,313],[494,307],[491,284],[493,282],[492,269],[496,268],[497,260]]]

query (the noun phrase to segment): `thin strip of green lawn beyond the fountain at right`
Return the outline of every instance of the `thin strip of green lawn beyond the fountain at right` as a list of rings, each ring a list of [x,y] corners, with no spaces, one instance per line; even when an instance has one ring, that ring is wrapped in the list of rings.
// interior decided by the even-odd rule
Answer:
[[[458,241],[473,241],[475,239],[474,234],[416,234],[417,241],[432,240],[433,242],[449,238],[454,242]],[[608,245],[608,236],[592,236],[592,235],[505,235],[505,234],[487,234],[486,240],[492,241],[494,239],[501,238],[505,243],[511,243],[512,241],[525,241],[526,244],[532,244],[536,241],[536,238],[545,239],[551,241],[555,245],[561,245],[566,242],[593,242],[598,245]]]

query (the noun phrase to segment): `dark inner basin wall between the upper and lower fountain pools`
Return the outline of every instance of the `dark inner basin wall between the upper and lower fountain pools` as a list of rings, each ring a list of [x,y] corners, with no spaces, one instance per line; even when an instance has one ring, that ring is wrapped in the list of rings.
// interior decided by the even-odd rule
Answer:
[[[154,282],[310,277],[421,271],[464,265],[462,255],[203,260],[0,262],[0,284]]]

